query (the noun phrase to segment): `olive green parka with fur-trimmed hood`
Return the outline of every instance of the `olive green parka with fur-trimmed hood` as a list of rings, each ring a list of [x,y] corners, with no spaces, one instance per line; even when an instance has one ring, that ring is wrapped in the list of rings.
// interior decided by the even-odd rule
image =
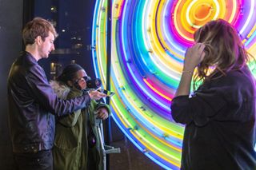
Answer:
[[[57,81],[51,81],[55,93],[63,99],[70,99],[82,95],[82,91],[69,88]],[[102,102],[90,101],[85,109],[79,109],[74,113],[56,119],[54,139],[54,170],[102,170],[102,149],[97,131],[95,111],[105,107],[110,114],[108,105]],[[91,127],[90,130],[88,128]],[[87,136],[93,132],[96,144],[89,147]],[[90,156],[90,159],[88,159]],[[87,161],[90,161],[88,167]]]

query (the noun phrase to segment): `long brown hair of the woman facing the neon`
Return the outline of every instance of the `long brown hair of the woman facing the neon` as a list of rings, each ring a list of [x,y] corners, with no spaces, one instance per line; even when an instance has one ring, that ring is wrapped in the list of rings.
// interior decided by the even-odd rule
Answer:
[[[230,70],[242,69],[249,60],[238,32],[225,20],[206,23],[194,33],[194,41],[206,45],[206,56],[194,76],[194,88],[198,82],[210,80],[216,73],[223,76]]]

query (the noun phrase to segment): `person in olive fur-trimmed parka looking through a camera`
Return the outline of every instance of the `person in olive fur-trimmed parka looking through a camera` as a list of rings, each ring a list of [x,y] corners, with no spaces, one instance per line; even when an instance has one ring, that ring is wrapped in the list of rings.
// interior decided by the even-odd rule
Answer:
[[[86,89],[86,72],[80,65],[63,69],[57,81],[51,81],[55,93],[63,99],[81,96]],[[105,120],[110,115],[108,105],[90,101],[89,107],[56,119],[54,139],[55,170],[102,169],[102,153],[95,119]]]

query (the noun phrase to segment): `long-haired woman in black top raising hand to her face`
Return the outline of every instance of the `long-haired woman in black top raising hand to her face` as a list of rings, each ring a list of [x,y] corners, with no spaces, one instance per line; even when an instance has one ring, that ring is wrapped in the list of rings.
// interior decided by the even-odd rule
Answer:
[[[194,34],[171,104],[185,125],[182,169],[256,169],[255,85],[238,32],[218,19]],[[194,88],[190,95],[194,75]]]

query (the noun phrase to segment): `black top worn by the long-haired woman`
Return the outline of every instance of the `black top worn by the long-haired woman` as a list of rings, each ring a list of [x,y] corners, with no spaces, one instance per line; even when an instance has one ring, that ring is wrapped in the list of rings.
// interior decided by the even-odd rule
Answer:
[[[254,86],[245,66],[174,97],[172,117],[186,125],[182,169],[256,169]]]

